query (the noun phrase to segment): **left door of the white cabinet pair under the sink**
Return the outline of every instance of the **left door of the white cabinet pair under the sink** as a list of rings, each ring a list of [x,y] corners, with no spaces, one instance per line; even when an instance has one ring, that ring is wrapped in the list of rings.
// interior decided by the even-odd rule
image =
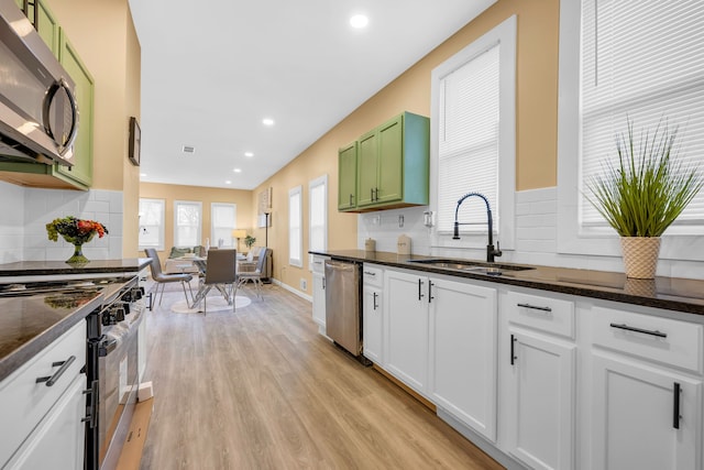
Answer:
[[[428,278],[386,270],[384,280],[385,369],[427,396]]]

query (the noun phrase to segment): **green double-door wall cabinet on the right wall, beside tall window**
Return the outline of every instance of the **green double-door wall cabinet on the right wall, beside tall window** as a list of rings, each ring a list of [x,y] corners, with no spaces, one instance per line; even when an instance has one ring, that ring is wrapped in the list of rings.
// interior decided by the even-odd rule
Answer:
[[[358,201],[340,210],[364,212],[427,205],[429,149],[429,119],[410,112],[363,134],[358,140]]]

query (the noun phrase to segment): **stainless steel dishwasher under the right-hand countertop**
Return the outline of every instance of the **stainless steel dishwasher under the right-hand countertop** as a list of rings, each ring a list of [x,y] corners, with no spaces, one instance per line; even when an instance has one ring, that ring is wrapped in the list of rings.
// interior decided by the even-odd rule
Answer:
[[[360,266],[326,260],[326,335],[356,357],[362,352]]]

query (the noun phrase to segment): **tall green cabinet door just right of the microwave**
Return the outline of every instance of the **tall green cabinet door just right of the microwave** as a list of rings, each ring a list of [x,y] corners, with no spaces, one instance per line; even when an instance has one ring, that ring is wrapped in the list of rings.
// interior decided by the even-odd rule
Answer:
[[[64,34],[64,30],[61,30],[59,44],[58,59],[76,83],[78,135],[74,142],[74,166],[58,166],[57,171],[87,188],[92,183],[92,94],[95,80]]]

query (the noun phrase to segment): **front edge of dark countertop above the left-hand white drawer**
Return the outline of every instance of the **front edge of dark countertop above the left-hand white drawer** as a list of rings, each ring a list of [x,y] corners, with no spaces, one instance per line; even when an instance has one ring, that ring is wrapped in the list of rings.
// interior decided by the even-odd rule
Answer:
[[[0,359],[0,382],[10,376],[13,372],[32,360],[52,342],[58,339],[76,324],[82,321],[88,314],[98,308],[105,299],[103,294],[98,294],[89,303],[81,305],[73,314],[66,316],[61,321],[35,336],[24,345]],[[82,365],[81,365],[82,367]]]

